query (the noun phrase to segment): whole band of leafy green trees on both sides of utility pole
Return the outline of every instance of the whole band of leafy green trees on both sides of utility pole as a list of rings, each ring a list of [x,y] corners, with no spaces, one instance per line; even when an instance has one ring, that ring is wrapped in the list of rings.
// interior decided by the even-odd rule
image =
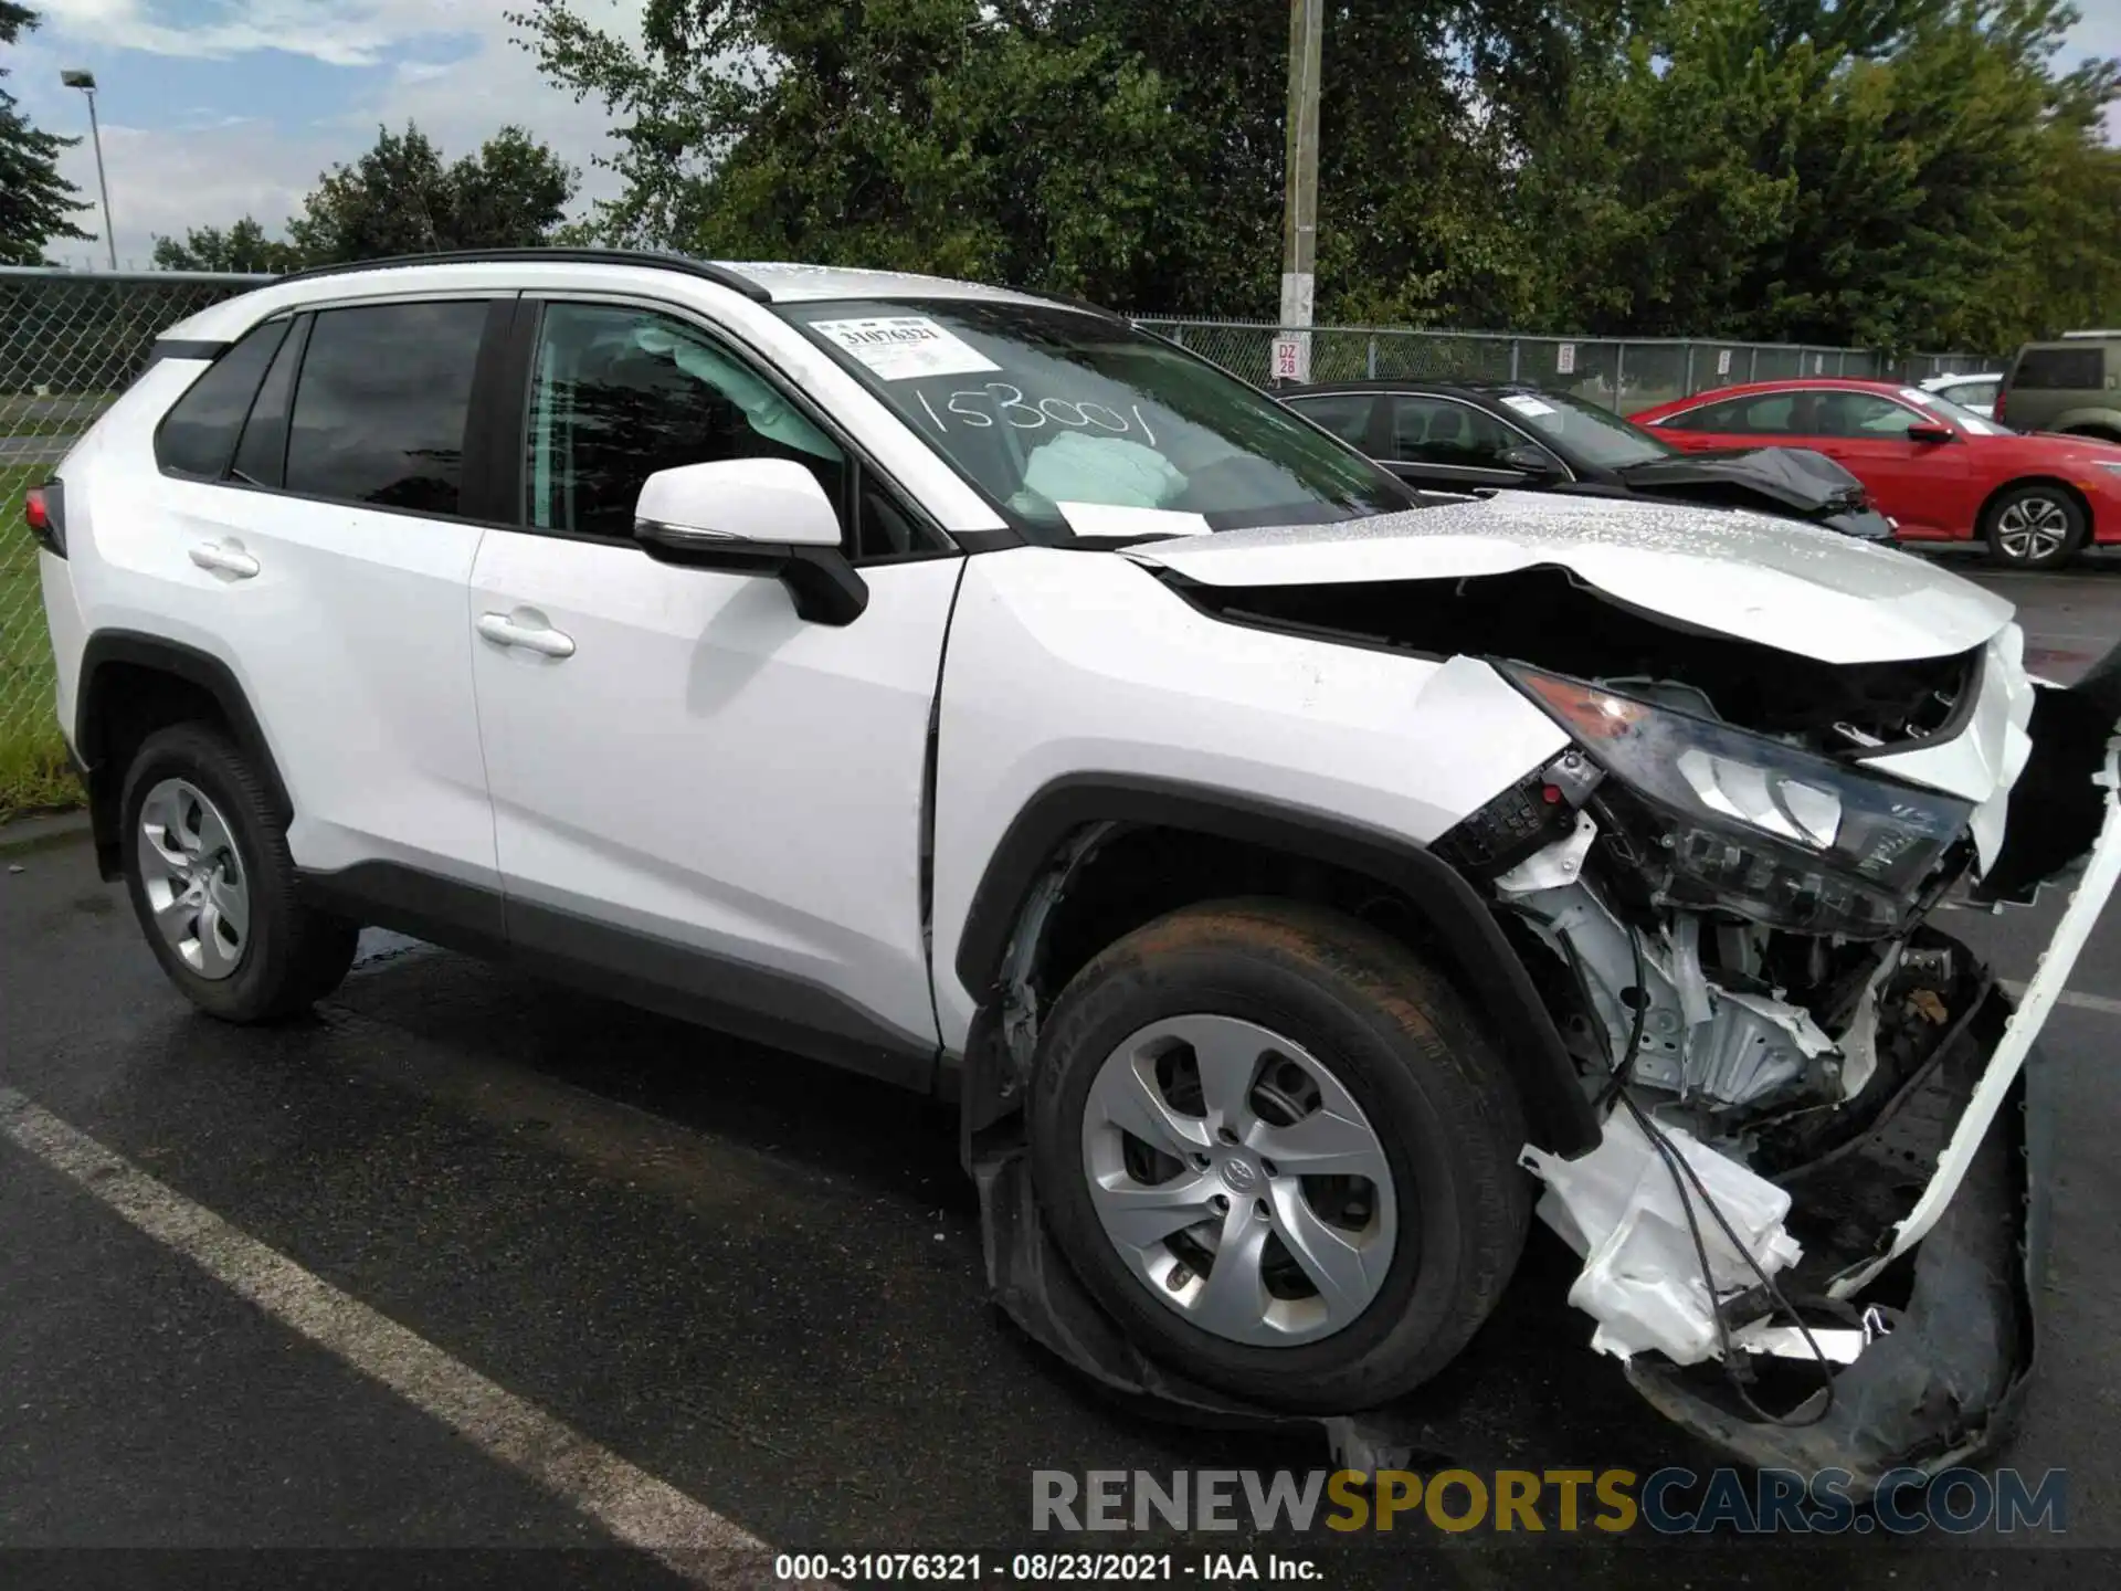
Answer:
[[[1319,314],[2000,348],[2121,299],[2121,68],[2064,0],[1336,0]],[[573,0],[594,227],[1273,314],[1279,0]],[[2110,318],[2108,310],[2100,318]]]

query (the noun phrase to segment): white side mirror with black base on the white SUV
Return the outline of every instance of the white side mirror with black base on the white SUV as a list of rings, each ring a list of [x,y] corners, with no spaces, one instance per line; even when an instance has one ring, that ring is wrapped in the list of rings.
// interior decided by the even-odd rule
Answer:
[[[662,564],[770,575],[814,624],[853,624],[870,605],[867,583],[840,552],[831,499],[791,458],[655,471],[634,503],[634,541]]]

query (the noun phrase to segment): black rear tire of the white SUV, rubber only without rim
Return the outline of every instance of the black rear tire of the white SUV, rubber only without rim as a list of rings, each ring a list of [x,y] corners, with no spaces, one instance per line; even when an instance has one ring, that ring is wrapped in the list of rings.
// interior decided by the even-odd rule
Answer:
[[[140,808],[165,779],[189,781],[218,808],[248,885],[248,936],[225,978],[204,978],[189,967],[155,927],[140,866]],[[125,770],[119,812],[125,893],[155,959],[193,1006],[225,1022],[274,1022],[339,986],[354,963],[361,929],[301,904],[286,827],[257,770],[218,730],[178,723],[151,734]]]

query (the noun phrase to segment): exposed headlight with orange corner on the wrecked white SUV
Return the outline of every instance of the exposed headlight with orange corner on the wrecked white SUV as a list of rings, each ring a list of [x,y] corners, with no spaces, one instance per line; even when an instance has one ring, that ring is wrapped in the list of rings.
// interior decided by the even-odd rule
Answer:
[[[1673,906],[1796,933],[1896,933],[1973,817],[1970,802],[1676,706],[1500,668],[1606,770],[1608,808]]]

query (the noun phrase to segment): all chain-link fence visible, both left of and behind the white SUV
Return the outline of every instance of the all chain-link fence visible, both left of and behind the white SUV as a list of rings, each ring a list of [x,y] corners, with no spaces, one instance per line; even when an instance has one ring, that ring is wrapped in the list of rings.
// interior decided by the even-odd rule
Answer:
[[[265,276],[83,274],[0,267],[0,815],[72,800],[66,745],[51,713],[51,647],[23,492],[146,367],[155,337]],[[1251,382],[1270,380],[1281,329],[1241,320],[1139,325],[1184,342]],[[1508,333],[1317,327],[1313,380],[1364,375],[1533,382],[1633,414],[1665,399],[1788,375],[1924,380],[1983,361],[1922,354],[1886,361],[1854,348],[1729,342],[1595,342]]]

